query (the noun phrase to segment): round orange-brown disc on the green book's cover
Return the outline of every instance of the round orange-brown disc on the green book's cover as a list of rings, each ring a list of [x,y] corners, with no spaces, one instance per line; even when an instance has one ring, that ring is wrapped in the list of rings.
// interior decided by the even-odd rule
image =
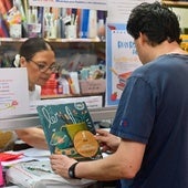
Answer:
[[[93,157],[98,152],[100,145],[91,132],[80,130],[74,136],[74,147],[83,157]]]

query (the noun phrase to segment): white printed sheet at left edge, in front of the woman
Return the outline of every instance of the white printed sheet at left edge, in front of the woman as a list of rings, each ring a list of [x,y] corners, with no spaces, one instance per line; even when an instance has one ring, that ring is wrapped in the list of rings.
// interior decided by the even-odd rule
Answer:
[[[0,117],[29,112],[27,69],[0,69]]]

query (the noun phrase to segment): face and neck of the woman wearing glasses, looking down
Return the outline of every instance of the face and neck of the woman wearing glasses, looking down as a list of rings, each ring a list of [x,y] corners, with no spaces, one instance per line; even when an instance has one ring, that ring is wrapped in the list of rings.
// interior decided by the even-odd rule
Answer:
[[[33,90],[34,85],[44,85],[55,66],[54,52],[52,50],[40,51],[29,62],[24,58],[23,60],[21,66],[28,70],[29,90]]]

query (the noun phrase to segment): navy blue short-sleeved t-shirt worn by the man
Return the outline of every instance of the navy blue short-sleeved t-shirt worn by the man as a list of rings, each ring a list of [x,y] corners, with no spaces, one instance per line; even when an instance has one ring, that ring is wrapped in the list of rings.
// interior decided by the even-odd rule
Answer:
[[[163,55],[134,71],[111,133],[146,144],[132,188],[188,188],[188,55]]]

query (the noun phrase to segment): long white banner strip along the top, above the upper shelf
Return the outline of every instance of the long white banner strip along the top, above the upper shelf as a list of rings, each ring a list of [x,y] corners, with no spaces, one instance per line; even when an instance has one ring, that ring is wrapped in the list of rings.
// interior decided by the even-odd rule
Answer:
[[[30,6],[106,10],[107,0],[29,0]]]

